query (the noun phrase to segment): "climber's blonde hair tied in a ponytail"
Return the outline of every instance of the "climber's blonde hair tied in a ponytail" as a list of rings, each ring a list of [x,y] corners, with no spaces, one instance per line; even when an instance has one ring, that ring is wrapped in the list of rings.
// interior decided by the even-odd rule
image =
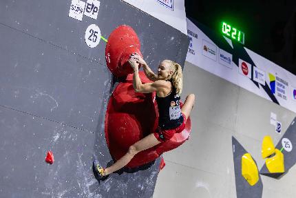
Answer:
[[[176,88],[176,93],[178,95],[181,95],[182,93],[182,67],[171,60],[165,60],[169,63],[169,67],[171,68],[171,70],[173,71],[173,75],[171,75],[171,83],[173,84],[173,86]]]

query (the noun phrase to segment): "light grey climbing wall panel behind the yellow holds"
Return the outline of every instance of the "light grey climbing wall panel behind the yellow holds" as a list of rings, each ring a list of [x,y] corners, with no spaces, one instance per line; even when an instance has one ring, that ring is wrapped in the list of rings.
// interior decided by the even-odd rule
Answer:
[[[183,76],[183,101],[189,93],[196,96],[191,139],[165,153],[167,165],[158,175],[154,197],[237,197],[231,137],[261,169],[263,137],[271,135],[276,145],[296,115],[191,63],[185,63]],[[281,135],[270,123],[271,112],[282,122]],[[295,197],[295,174],[293,166],[279,180],[261,175],[262,197]]]

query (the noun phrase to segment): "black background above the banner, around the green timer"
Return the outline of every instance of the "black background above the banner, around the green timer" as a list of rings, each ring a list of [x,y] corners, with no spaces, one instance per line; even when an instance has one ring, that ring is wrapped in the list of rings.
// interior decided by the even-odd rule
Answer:
[[[185,0],[187,16],[220,31],[228,21],[245,33],[245,45],[296,75],[296,1]]]

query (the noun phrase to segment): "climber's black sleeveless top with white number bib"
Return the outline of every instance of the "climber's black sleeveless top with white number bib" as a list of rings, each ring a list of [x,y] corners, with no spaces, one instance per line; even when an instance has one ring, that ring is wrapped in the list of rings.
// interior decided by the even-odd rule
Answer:
[[[173,87],[173,86],[172,86]],[[158,126],[163,130],[177,128],[184,120],[180,108],[180,96],[176,94],[176,88],[172,88],[166,97],[156,95],[158,105]]]

